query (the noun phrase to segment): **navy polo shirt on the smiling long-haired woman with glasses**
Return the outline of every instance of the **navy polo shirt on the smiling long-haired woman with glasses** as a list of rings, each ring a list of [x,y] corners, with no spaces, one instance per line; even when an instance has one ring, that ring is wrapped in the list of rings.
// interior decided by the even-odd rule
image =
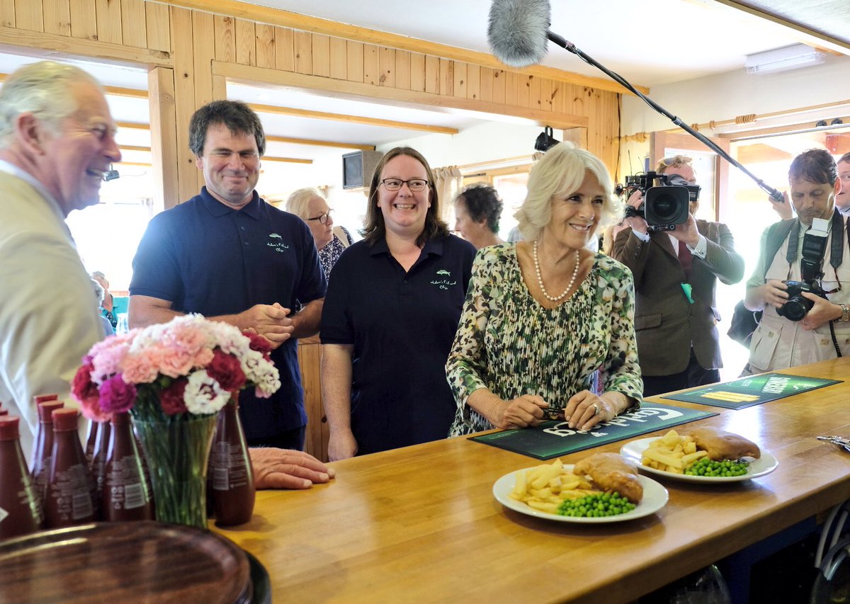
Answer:
[[[475,248],[428,241],[410,271],[386,240],[358,241],[334,265],[323,344],[351,344],[351,428],[359,454],[445,438],[456,404],[445,379]]]

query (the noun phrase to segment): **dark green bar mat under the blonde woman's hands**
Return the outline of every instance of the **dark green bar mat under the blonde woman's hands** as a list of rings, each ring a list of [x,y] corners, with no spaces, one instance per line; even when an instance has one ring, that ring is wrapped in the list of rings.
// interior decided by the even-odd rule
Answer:
[[[614,443],[662,428],[701,420],[711,415],[717,414],[697,409],[670,407],[660,403],[644,403],[640,409],[628,411],[613,420],[604,421],[590,432],[574,430],[565,421],[546,421],[533,428],[491,432],[470,439],[535,457],[538,460],[549,460],[558,455],[591,449],[600,444]]]

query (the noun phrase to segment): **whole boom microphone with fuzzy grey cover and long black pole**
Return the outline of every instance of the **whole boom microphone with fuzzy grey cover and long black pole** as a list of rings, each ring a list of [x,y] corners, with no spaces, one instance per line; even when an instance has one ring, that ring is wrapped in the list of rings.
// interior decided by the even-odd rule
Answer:
[[[752,178],[759,188],[770,195],[773,200],[779,202],[783,200],[782,194],[778,190],[757,178],[734,157],[717,146],[714,141],[694,130],[693,127],[684,123],[677,116],[672,115],[660,104],[655,103],[653,99],[649,99],[648,96],[632,86],[625,77],[609,70],[596,59],[583,53],[574,43],[568,42],[558,34],[549,31],[551,20],[552,12],[547,0],[493,0],[490,5],[490,24],[487,27],[487,42],[490,42],[490,50],[493,51],[496,59],[499,59],[505,65],[523,68],[540,63],[546,57],[547,42],[551,40],[561,48],[575,54],[588,65],[593,65],[598,70],[603,71],[606,76],[609,76],[639,99],[643,99],[660,115],[668,118],[686,133],[689,133],[700,143],[705,144],[717,155]]]

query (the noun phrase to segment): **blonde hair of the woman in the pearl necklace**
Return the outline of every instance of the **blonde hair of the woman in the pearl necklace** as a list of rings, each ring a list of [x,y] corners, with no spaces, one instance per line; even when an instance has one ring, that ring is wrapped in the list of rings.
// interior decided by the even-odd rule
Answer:
[[[623,203],[614,195],[614,185],[605,164],[590,151],[579,149],[564,141],[556,144],[531,168],[528,195],[513,217],[519,222],[519,231],[526,240],[536,240],[541,230],[552,219],[552,200],[572,195],[581,187],[587,172],[599,182],[604,191],[602,217],[598,229],[619,223],[623,216]]]

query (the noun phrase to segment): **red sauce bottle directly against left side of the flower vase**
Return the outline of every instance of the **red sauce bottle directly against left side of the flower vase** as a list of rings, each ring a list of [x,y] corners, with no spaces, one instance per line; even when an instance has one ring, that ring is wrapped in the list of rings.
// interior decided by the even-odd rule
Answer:
[[[103,519],[152,520],[150,484],[144,482],[142,462],[130,427],[130,415],[112,415],[110,432],[101,491]]]

